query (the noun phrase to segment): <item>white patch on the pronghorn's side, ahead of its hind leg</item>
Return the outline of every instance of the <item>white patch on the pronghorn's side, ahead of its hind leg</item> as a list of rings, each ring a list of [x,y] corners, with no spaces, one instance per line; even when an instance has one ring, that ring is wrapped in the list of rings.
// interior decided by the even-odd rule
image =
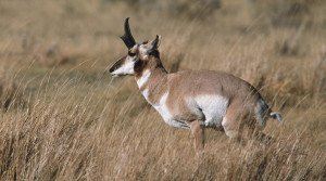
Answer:
[[[218,128],[228,106],[228,100],[221,95],[199,95],[187,98],[189,108],[193,114],[204,115],[205,127]]]

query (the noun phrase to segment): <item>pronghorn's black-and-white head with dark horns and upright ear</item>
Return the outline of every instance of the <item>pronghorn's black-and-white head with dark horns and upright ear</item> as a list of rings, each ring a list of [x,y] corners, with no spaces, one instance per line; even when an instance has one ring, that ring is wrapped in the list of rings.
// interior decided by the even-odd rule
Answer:
[[[121,39],[125,42],[128,48],[128,54],[118,60],[111,68],[110,74],[113,77],[135,75],[136,73],[142,72],[146,65],[150,62],[150,56],[159,56],[159,46],[162,36],[150,42],[145,41],[142,43],[136,43],[130,28],[128,18],[125,21],[125,35],[121,36]]]

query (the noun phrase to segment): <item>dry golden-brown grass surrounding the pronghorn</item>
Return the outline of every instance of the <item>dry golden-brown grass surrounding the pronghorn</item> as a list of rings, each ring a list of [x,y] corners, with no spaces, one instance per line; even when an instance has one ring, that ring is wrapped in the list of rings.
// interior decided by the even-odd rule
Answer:
[[[325,180],[326,4],[300,1],[309,13],[294,26],[271,24],[266,5],[172,20],[122,2],[1,1],[0,180]],[[163,35],[166,69],[239,76],[285,125],[269,120],[273,140],[246,145],[208,130],[199,165],[190,131],[166,126],[131,77],[103,75],[126,53],[126,16],[137,40]]]

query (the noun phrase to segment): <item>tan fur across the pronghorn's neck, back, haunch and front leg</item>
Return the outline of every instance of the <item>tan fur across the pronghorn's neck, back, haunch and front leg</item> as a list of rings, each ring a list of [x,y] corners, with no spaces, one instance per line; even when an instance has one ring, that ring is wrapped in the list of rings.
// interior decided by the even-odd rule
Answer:
[[[247,132],[256,130],[258,125],[252,125],[252,120],[260,94],[250,83],[233,75],[212,70],[183,70],[167,74],[164,67],[156,67],[158,59],[150,59],[147,66],[143,67],[143,72],[150,69],[151,75],[140,91],[149,90],[148,101],[151,104],[158,104],[164,92],[168,91],[166,105],[170,113],[179,119],[189,120],[191,128],[193,120],[197,122],[202,120],[191,113],[185,98],[217,94],[229,101],[222,124],[230,138],[240,139],[244,128],[248,128]],[[139,75],[136,75],[136,80],[140,77]],[[193,128],[191,130],[196,138],[196,150],[202,152],[200,150],[203,148],[203,145],[201,146],[203,137],[199,133],[198,128],[195,129],[196,131]]]

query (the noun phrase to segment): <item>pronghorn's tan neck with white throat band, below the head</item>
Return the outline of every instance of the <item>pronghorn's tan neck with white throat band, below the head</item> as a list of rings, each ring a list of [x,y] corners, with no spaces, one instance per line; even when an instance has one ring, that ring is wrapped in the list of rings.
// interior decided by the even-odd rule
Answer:
[[[149,57],[147,62],[142,62],[141,72],[136,72],[135,79],[140,92],[149,103],[154,103],[160,96],[160,92],[165,90],[167,72],[163,67],[160,59]],[[137,68],[136,68],[137,69]]]

